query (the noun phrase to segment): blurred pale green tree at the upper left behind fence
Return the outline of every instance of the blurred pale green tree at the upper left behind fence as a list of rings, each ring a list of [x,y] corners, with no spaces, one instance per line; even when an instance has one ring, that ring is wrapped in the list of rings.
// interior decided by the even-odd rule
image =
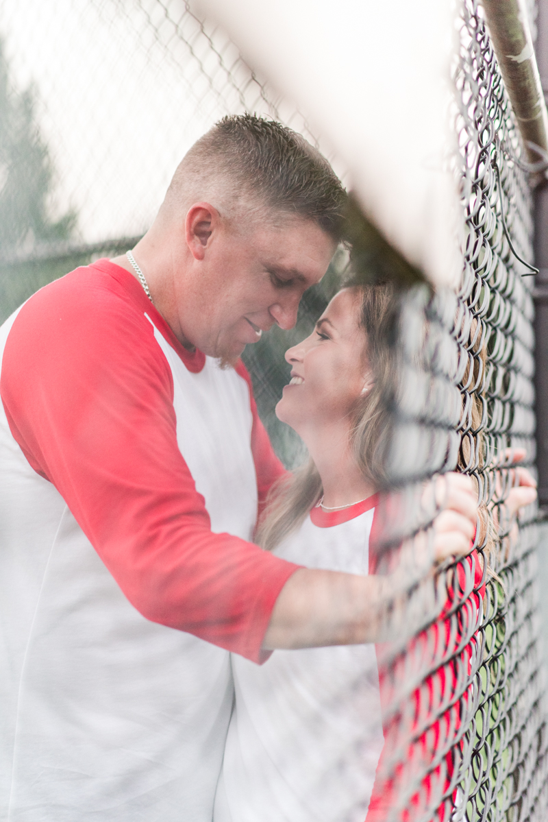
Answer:
[[[0,255],[66,240],[76,212],[51,214],[53,163],[35,116],[36,93],[16,91],[0,39]]]

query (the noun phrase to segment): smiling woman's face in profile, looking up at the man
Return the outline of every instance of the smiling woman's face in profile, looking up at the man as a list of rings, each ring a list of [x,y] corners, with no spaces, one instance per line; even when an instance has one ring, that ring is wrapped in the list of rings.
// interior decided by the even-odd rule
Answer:
[[[291,381],[276,416],[302,436],[311,428],[351,423],[356,400],[372,385],[364,332],[358,325],[360,306],[357,289],[339,291],[310,337],[285,354],[292,366]]]

